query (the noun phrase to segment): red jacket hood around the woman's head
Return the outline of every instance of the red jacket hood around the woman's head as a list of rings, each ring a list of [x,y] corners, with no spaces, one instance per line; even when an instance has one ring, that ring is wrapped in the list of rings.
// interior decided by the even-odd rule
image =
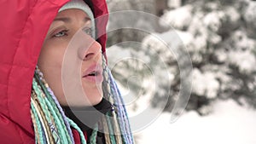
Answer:
[[[68,0],[0,2],[0,139],[3,143],[9,143],[10,141],[4,140],[11,140],[13,137],[19,137],[17,143],[24,143],[34,137],[30,114],[34,69],[51,21],[58,9],[67,2]],[[108,14],[104,0],[91,0],[89,5],[96,18]],[[108,16],[101,21],[96,20],[97,34],[100,36],[97,41],[102,44],[103,52],[107,21]]]

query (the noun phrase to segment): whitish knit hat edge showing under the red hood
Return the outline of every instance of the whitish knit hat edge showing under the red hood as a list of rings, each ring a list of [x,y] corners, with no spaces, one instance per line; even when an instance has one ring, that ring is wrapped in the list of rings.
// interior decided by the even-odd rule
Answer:
[[[91,20],[92,37],[96,37],[95,20],[90,7],[83,0],[71,0],[59,9],[59,13],[66,9],[80,9],[86,13]]]

